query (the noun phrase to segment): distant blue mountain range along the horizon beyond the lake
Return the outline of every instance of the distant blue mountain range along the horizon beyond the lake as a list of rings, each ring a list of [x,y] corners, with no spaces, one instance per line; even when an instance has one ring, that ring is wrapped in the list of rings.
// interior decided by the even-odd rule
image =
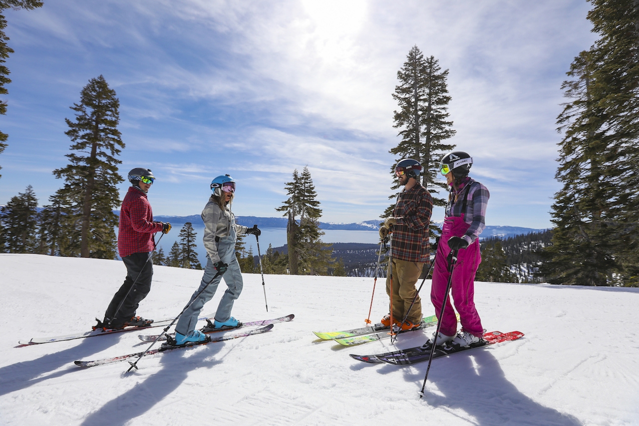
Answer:
[[[252,227],[258,225],[258,228],[286,228],[286,217],[256,217],[256,216],[235,216],[237,223],[243,226]],[[160,222],[171,222],[171,225],[183,225],[187,222],[193,225],[203,225],[202,218],[199,214],[191,216],[155,216],[153,220]],[[343,231],[376,231],[380,227],[381,219],[373,219],[371,221],[355,222],[355,223],[328,223],[319,222],[319,228],[323,230],[343,230]],[[435,221],[437,225],[442,226],[442,221]],[[545,229],[521,228],[520,226],[486,226],[481,237],[499,237],[507,238],[515,235],[522,235],[531,232],[542,232]]]

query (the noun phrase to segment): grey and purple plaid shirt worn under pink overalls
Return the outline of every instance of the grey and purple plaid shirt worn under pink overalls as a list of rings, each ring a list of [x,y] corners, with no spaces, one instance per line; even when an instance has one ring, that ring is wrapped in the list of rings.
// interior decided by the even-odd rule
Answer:
[[[466,187],[470,187],[470,189],[466,197],[466,211],[462,212],[463,194],[466,192]],[[459,195],[457,201],[455,201],[456,194]],[[488,208],[489,198],[488,189],[470,177],[464,178],[457,190],[450,187],[449,201],[446,205],[446,217],[461,217],[461,214],[464,214],[464,221],[470,225],[470,228],[468,228],[462,238],[468,244],[472,244],[486,228],[486,209]]]

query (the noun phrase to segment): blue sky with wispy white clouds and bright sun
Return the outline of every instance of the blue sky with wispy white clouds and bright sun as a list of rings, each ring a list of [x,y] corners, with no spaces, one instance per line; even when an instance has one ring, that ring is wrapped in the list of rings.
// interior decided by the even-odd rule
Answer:
[[[490,193],[487,225],[551,226],[555,120],[574,56],[595,40],[583,0],[82,1],[5,11],[15,53],[0,129],[0,204],[63,182],[65,118],[89,79],[120,100],[120,173],[157,180],[157,215],[199,214],[213,177],[240,216],[279,216],[308,166],[323,221],[378,217],[399,141],[391,94],[413,45],[449,69],[450,141]],[[125,194],[127,182],[120,185]],[[435,209],[434,220],[443,219]]]

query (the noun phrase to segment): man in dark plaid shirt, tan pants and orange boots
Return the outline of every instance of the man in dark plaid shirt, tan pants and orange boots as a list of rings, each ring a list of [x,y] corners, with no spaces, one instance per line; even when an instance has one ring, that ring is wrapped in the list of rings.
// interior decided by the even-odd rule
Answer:
[[[392,216],[387,217],[380,228],[382,239],[392,233],[386,293],[392,302],[392,322],[404,330],[422,322],[422,301],[415,283],[424,264],[429,264],[428,228],[433,198],[417,181],[421,170],[419,161],[413,159],[397,163],[395,175],[404,189],[397,196]],[[390,313],[381,319],[381,323],[391,325]]]

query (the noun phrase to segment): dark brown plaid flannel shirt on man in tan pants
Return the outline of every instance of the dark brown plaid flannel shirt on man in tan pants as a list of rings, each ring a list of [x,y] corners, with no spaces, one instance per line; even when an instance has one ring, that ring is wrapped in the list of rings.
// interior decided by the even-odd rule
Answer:
[[[393,216],[397,223],[393,226],[390,249],[393,258],[408,262],[429,264],[430,242],[428,226],[433,211],[433,198],[422,185],[401,191]]]

